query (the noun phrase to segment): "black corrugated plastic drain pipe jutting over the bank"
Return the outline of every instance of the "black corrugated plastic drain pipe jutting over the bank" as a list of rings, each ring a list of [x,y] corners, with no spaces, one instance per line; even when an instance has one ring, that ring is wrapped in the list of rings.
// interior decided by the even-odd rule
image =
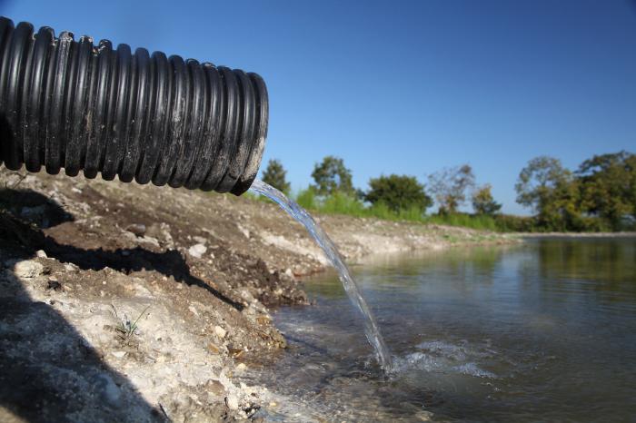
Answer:
[[[0,17],[0,164],[245,192],[267,135],[263,79]]]

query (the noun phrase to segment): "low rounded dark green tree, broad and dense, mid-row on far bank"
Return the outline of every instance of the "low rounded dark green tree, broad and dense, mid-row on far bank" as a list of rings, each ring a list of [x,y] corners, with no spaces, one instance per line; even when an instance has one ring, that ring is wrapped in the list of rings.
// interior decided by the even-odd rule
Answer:
[[[424,186],[414,176],[396,175],[380,176],[369,180],[371,189],[364,199],[372,204],[382,202],[393,212],[419,209],[424,212],[432,205],[432,199]]]

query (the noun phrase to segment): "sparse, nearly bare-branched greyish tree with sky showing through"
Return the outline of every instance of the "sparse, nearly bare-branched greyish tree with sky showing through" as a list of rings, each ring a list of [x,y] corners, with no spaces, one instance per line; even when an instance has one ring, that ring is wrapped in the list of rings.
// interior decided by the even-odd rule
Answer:
[[[455,213],[466,202],[466,192],[474,186],[475,176],[469,164],[444,168],[429,176],[429,190],[440,206],[440,214]]]

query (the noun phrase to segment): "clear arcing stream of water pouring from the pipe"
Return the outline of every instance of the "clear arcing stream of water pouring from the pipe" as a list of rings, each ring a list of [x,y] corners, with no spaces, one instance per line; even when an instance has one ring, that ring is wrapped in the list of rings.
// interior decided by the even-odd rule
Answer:
[[[338,271],[341,282],[343,282],[344,291],[349,296],[349,300],[353,302],[353,305],[363,314],[364,318],[364,334],[369,340],[373,349],[375,349],[375,355],[380,365],[386,372],[390,372],[393,369],[393,362],[389,349],[384,344],[384,339],[378,330],[378,325],[373,318],[373,313],[369,310],[369,306],[363,298],[357,283],[353,280],[351,272],[347,268],[347,265],[343,261],[343,257],[338,252],[338,249],[333,244],[333,241],[327,236],[323,228],[316,223],[312,216],[305,211],[296,202],[288,199],[283,192],[280,192],[270,186],[269,184],[254,180],[250,191],[259,193],[269,198],[273,202],[276,202],[281,208],[293,217],[296,221],[303,224],[305,229],[312,235],[312,238],[323,249],[324,254],[332,266]]]

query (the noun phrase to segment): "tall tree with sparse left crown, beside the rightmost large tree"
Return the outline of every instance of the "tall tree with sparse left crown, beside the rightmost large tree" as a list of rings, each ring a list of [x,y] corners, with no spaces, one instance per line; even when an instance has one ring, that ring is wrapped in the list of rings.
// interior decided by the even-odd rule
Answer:
[[[517,202],[532,207],[537,224],[546,231],[580,231],[578,183],[561,161],[540,156],[528,162],[514,186]]]

